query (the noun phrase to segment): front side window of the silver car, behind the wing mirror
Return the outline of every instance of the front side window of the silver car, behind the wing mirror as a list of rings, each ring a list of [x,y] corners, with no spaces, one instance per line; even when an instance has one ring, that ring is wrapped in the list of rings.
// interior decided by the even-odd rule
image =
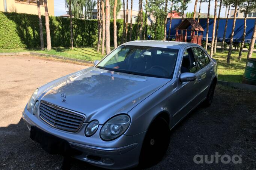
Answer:
[[[183,72],[196,72],[197,71],[196,61],[192,49],[189,48],[184,51],[182,64],[181,64],[181,73]]]

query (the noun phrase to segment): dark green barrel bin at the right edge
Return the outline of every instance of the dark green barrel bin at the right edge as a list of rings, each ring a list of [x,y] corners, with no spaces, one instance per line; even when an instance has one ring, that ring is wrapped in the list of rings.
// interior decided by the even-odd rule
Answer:
[[[256,85],[256,58],[248,59],[242,83]]]

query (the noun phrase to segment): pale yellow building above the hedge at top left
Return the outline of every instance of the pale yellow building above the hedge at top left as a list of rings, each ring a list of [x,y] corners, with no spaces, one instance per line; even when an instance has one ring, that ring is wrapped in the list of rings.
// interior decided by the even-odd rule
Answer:
[[[38,15],[37,0],[0,0],[0,11]],[[54,16],[54,0],[48,0],[48,13]],[[43,0],[40,0],[41,14],[44,15]]]

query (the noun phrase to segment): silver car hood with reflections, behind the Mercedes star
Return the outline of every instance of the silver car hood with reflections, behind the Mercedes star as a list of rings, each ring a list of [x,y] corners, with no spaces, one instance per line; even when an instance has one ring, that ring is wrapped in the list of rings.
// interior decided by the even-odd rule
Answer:
[[[128,113],[168,81],[91,67],[60,79],[41,100],[80,112],[86,115],[86,122],[96,119],[103,124],[113,115]]]

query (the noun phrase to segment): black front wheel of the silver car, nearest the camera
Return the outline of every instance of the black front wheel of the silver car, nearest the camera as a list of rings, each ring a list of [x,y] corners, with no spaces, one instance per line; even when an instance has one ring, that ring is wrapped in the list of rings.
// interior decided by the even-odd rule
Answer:
[[[148,129],[140,152],[139,166],[153,166],[162,160],[170,143],[170,130],[163,118],[157,118]]]

